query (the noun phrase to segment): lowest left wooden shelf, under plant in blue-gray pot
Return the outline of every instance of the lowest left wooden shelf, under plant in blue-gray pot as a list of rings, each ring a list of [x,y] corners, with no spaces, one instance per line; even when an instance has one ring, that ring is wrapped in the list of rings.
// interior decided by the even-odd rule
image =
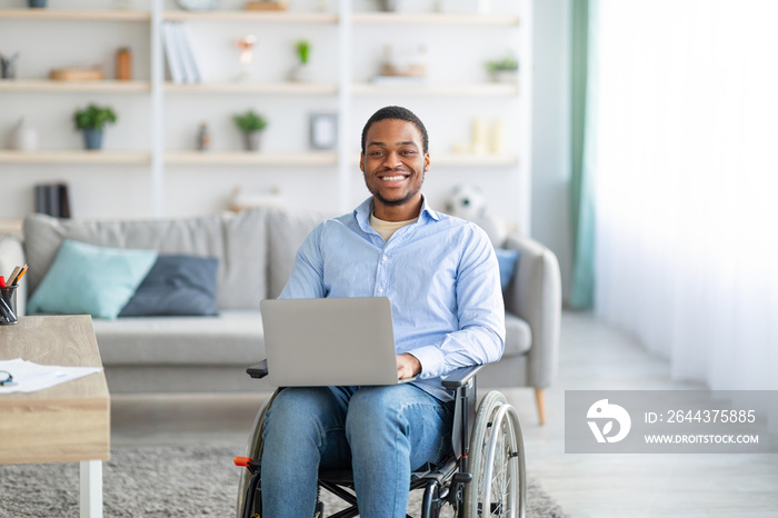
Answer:
[[[0,163],[148,166],[151,163],[151,153],[147,151],[87,151],[70,149],[38,151],[0,150]]]

